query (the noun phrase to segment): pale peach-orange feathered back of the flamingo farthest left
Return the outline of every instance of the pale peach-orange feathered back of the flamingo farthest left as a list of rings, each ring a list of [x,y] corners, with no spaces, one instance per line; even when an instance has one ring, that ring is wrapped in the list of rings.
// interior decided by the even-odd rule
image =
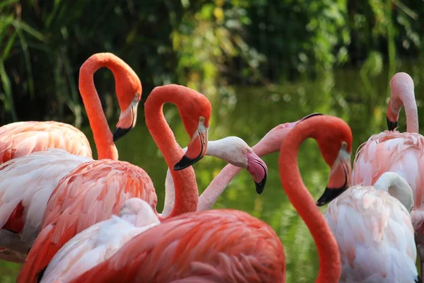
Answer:
[[[48,148],[92,158],[87,137],[76,127],[61,122],[15,122],[0,127],[0,162]]]

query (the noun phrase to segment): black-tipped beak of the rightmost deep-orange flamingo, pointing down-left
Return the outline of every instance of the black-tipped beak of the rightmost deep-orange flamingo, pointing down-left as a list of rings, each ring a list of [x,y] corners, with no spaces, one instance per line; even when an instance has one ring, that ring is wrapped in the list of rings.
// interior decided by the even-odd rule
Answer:
[[[317,200],[317,206],[331,202],[351,185],[351,154],[341,148],[336,161],[331,166],[329,183]]]

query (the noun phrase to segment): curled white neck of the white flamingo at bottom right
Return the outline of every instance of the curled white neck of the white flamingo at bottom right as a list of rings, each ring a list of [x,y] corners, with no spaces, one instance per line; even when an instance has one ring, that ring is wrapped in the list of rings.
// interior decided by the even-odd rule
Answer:
[[[383,173],[373,185],[375,190],[389,192],[392,197],[404,204],[408,211],[413,207],[413,192],[406,180],[394,172]]]

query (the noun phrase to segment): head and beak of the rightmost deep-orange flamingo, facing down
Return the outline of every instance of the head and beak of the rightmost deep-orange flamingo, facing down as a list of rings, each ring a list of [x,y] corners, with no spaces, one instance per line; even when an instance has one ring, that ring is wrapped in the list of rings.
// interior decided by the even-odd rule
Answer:
[[[343,120],[332,118],[327,128],[320,129],[317,135],[319,150],[331,168],[329,183],[317,200],[318,206],[331,202],[351,185],[351,128]]]

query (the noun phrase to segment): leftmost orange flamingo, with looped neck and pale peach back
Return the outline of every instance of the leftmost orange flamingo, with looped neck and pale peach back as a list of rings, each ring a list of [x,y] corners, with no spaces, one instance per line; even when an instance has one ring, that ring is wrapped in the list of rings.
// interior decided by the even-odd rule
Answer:
[[[121,115],[113,137],[107,126],[102,105],[95,91],[93,74],[102,67],[112,71]],[[133,69],[112,53],[98,53],[81,66],[79,91],[93,129],[98,158],[117,160],[113,141],[136,125],[137,105],[141,98],[141,82]],[[90,143],[76,127],[55,121],[14,122],[0,127],[0,164],[31,152],[48,148],[64,149],[71,154],[92,158]]]

